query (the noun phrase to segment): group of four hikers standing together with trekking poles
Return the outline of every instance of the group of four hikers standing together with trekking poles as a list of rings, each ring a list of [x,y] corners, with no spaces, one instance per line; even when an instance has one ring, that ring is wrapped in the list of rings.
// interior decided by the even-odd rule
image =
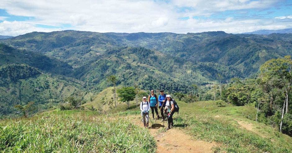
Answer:
[[[162,122],[167,121],[166,130],[173,127],[173,114],[178,111],[178,106],[171,98],[171,95],[164,94],[164,90],[160,90],[160,95],[157,97],[154,94],[154,90],[151,90],[151,94],[147,97],[142,98],[143,101],[140,104],[142,122],[144,127],[148,128],[149,125],[149,111],[151,109],[152,117],[154,118],[154,111],[157,115],[156,119],[162,119]],[[158,106],[159,105],[159,106]],[[158,109],[157,109],[158,106]],[[160,112],[160,114],[159,114]]]

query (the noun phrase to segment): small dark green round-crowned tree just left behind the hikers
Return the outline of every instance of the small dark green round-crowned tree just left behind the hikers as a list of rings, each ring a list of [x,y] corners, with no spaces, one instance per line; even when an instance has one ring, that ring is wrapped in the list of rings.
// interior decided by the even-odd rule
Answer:
[[[135,89],[134,87],[122,87],[118,89],[116,93],[119,95],[122,102],[127,102],[128,109],[130,107],[130,101],[135,99]]]

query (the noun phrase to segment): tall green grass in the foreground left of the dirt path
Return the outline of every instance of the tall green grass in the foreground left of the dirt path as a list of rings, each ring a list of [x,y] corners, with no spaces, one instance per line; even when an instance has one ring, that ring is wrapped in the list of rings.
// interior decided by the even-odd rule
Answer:
[[[118,116],[68,112],[0,121],[3,152],[155,152],[155,148],[147,130]]]

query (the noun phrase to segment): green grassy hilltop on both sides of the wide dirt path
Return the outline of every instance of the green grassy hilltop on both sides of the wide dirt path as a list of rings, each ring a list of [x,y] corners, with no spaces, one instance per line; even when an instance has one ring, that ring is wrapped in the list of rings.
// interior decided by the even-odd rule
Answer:
[[[292,152],[292,138],[256,122],[256,109],[252,106],[237,107],[216,101],[177,102],[180,112],[174,114],[174,128],[194,139],[216,142],[214,152]],[[28,119],[1,120],[0,149],[155,152],[153,137],[148,130],[137,126],[137,118],[140,118],[139,108],[132,102],[130,109],[119,104],[107,115],[69,110],[45,112]],[[264,117],[260,115],[259,120]]]

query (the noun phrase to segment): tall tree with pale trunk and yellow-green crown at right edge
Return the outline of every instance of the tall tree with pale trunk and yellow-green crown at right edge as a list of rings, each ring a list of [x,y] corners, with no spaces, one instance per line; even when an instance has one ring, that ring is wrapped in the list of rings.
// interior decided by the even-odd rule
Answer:
[[[289,95],[292,84],[292,60],[291,56],[285,56],[284,58],[271,59],[268,60],[260,67],[262,81],[267,82],[271,80],[273,77],[276,78],[276,85],[285,92],[285,100],[283,104],[281,123],[280,123],[280,131],[282,132],[282,123],[283,117],[285,113],[288,113],[288,102]],[[286,106],[286,111],[285,111]]]

